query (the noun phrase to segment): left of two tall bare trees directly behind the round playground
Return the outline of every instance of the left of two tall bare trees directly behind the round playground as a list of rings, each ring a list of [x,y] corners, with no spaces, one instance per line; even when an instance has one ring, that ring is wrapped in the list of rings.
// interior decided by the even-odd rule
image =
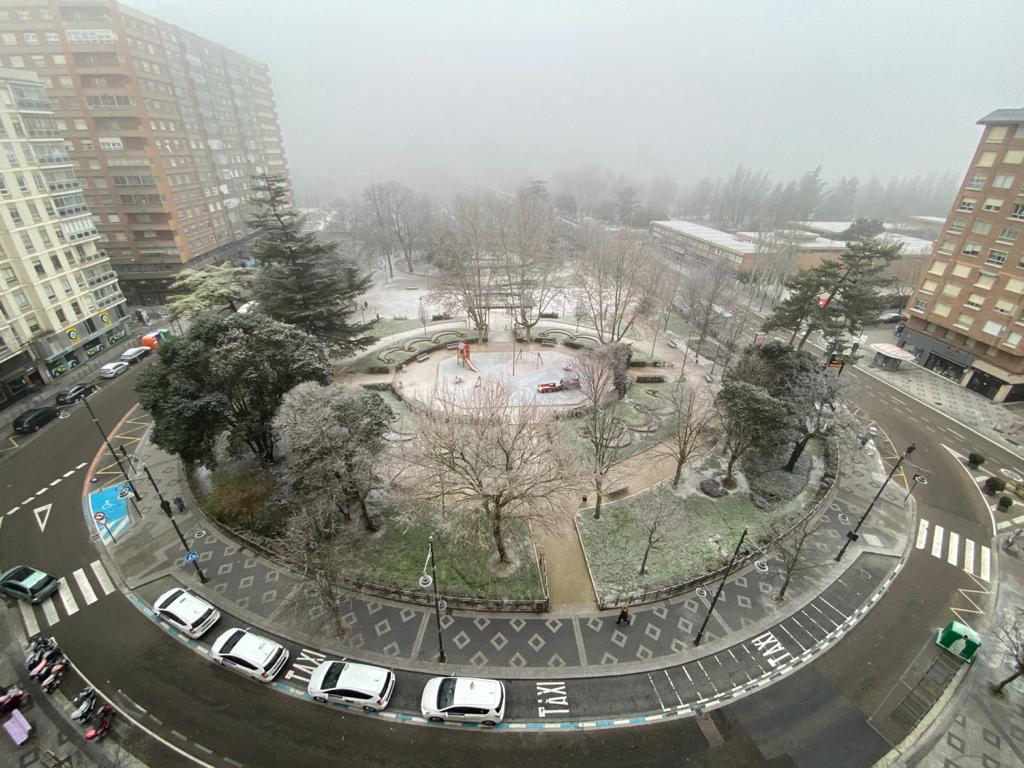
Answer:
[[[443,218],[437,244],[440,282],[433,298],[464,311],[481,342],[487,340],[490,309],[501,300],[495,257],[498,208],[490,195],[460,196]]]

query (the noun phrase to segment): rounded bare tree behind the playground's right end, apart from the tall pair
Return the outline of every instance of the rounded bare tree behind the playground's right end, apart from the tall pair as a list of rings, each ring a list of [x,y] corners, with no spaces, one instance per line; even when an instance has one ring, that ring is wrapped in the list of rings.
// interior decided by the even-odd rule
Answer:
[[[602,342],[621,341],[647,309],[659,276],[645,236],[589,226],[581,233],[577,287]]]

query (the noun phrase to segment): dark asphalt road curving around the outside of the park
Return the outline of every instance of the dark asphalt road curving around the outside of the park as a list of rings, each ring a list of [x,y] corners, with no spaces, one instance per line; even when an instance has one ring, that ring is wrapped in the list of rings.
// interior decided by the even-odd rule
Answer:
[[[131,383],[136,373],[133,369],[108,383],[91,398],[105,429],[111,430],[134,402]],[[979,447],[979,440],[966,435],[957,442],[955,432],[963,429],[944,417],[862,373],[848,369],[844,376],[853,382],[850,399],[871,414],[896,445],[918,443],[914,464],[931,472],[929,484],[915,493],[921,516],[988,542],[987,510],[964,470],[937,444],[941,438],[967,453]],[[37,497],[14,514],[0,517],[0,563],[31,562],[68,575],[96,559],[82,513],[88,478],[81,465],[90,462],[99,447],[99,434],[88,414],[76,407],[70,418],[24,440],[0,463],[5,509]],[[998,446],[984,450],[991,462],[1020,469],[1020,463]],[[52,505],[48,513],[37,515],[35,510],[47,504]],[[40,524],[43,516],[45,527]],[[808,710],[811,699],[801,694],[809,683],[795,676],[735,708],[716,712],[716,727],[725,741],[714,746],[692,719],[587,734],[499,734],[348,715],[282,695],[213,666],[155,627],[120,593],[63,618],[52,632],[92,682],[104,690],[121,691],[116,703],[126,714],[134,714],[169,743],[211,765],[233,761],[301,766],[358,756],[361,765],[382,766],[432,765],[441,759],[453,765],[485,761],[510,765],[524,758],[538,765],[594,760],[622,765],[756,766],[763,764],[759,748],[769,758],[791,752],[800,757],[801,765],[812,765],[808,761],[813,751],[801,745],[806,748],[813,733],[823,731],[835,733],[840,741],[850,740],[849,749],[839,751],[846,757],[837,755],[829,762],[838,767],[864,765],[868,754],[877,757],[885,752],[885,742],[872,738],[874,732],[864,719],[886,700],[913,657],[931,642],[932,628],[949,621],[950,606],[965,580],[962,571],[927,550],[914,550],[900,579],[871,613],[805,671],[814,676],[813,719]],[[14,613],[9,615],[13,618]],[[418,683],[411,680],[402,686],[396,702],[415,705]],[[614,688],[602,695],[615,695]],[[856,722],[862,727],[853,728],[851,723]],[[433,757],[440,749],[442,758]],[[173,751],[155,742],[146,750],[152,765],[181,762]],[[783,758],[779,764],[788,763]]]

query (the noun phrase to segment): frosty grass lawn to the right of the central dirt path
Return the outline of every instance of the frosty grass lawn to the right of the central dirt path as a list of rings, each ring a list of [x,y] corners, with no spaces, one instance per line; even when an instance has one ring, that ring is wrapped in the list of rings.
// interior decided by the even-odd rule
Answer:
[[[707,461],[701,471],[686,473],[673,495],[675,511],[664,528],[665,539],[651,551],[642,577],[646,532],[638,520],[645,495],[606,503],[600,520],[593,518],[592,510],[579,512],[580,534],[597,589],[613,594],[677,584],[719,567],[732,554],[744,527],[748,542],[756,544],[772,524],[784,524],[802,512],[821,476],[820,454],[820,445],[812,441],[795,472],[797,479],[787,486],[799,485],[799,493],[793,490],[788,502],[773,505],[767,512],[755,506],[746,493],[749,483],[757,486],[758,478],[737,475],[737,489],[722,499],[694,490],[701,477],[718,474],[717,457]],[[777,484],[777,478],[773,480]]]

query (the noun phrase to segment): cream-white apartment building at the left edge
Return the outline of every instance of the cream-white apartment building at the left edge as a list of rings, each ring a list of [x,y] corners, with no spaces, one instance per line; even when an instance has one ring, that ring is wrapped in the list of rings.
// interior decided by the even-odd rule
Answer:
[[[0,69],[0,408],[128,333],[42,82]]]

